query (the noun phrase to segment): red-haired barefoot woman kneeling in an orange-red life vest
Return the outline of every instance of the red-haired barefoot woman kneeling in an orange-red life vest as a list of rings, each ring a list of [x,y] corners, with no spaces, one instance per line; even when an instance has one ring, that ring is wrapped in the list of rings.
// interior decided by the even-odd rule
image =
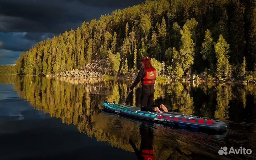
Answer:
[[[149,57],[144,57],[141,60],[142,68],[140,69],[137,78],[133,85],[129,88],[129,92],[142,81],[142,96],[140,99],[140,109],[142,111],[155,111],[163,113],[157,106],[153,106],[153,100],[155,95],[155,81],[156,81],[156,69],[152,66]],[[168,112],[164,105],[160,105],[160,108],[165,112]]]

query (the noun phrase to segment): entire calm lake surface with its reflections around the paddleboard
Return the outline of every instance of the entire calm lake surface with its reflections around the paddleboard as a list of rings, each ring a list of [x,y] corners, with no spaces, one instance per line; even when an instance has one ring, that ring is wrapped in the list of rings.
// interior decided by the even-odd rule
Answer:
[[[118,117],[104,100],[122,103],[132,81],[0,75],[0,159],[256,159],[256,86],[158,82],[155,103],[170,111],[228,124],[212,134]],[[139,106],[138,86],[127,103]],[[220,147],[251,155],[219,155]],[[137,153],[137,154],[136,154]]]

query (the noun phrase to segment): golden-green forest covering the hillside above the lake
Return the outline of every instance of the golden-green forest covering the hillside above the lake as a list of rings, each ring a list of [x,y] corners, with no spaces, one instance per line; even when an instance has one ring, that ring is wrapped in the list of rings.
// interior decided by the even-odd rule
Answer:
[[[102,15],[21,53],[19,75],[51,75],[104,58],[108,75],[149,56],[159,76],[256,80],[256,0],[159,0]]]

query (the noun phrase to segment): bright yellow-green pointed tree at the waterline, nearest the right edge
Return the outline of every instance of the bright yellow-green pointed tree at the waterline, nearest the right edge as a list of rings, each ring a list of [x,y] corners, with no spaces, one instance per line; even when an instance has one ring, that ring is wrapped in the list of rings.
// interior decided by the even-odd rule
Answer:
[[[214,46],[217,58],[217,78],[228,80],[231,77],[231,66],[229,64],[229,44],[225,41],[222,34],[219,35],[218,42]]]

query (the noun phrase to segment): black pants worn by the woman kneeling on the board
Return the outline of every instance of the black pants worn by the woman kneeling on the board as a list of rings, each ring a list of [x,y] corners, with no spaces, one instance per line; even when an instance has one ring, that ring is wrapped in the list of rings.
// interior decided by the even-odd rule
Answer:
[[[143,92],[143,91],[147,92]],[[155,106],[153,106],[155,95],[154,85],[142,85],[142,96],[140,98],[140,109],[142,111],[153,111]]]

